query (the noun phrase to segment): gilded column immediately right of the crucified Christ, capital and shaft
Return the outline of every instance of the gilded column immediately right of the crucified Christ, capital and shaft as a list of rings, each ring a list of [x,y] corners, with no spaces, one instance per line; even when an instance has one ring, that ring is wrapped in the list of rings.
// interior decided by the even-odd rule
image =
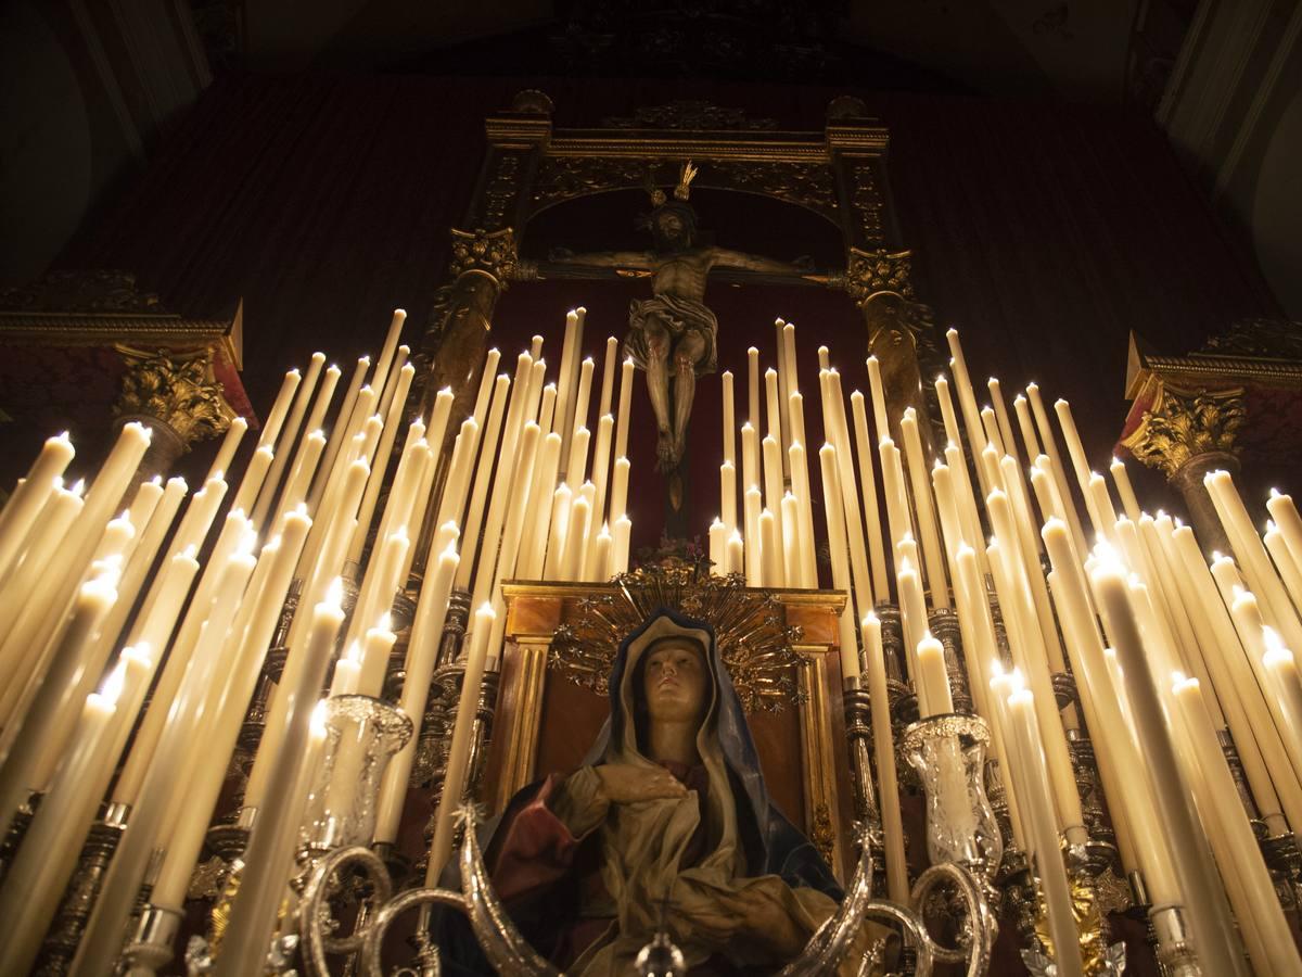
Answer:
[[[927,419],[931,410],[923,396],[922,361],[934,358],[927,356],[931,352],[932,313],[930,306],[914,297],[909,281],[911,261],[911,251],[852,248],[846,255],[844,287],[863,313],[868,354],[881,365],[892,439],[902,444],[900,417],[913,408],[918,412],[923,449],[930,456]]]

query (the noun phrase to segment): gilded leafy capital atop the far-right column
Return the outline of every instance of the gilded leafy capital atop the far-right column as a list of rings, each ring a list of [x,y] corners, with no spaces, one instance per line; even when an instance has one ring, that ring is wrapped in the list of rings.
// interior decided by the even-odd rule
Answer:
[[[1174,478],[1199,455],[1233,455],[1234,438],[1246,419],[1242,388],[1181,389],[1163,384],[1139,426],[1121,443],[1148,468]]]

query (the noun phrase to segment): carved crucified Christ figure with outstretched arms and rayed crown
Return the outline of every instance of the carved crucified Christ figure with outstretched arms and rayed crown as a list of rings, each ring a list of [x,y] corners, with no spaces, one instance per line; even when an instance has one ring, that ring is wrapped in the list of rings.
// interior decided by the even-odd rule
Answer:
[[[727,248],[697,248],[697,212],[687,203],[691,178],[685,163],[673,199],[663,190],[651,193],[655,210],[643,219],[651,231],[648,251],[599,251],[572,254],[553,250],[555,262],[616,268],[651,277],[651,298],[629,305],[629,336],[625,343],[633,362],[647,374],[647,393],[655,412],[656,470],[673,472],[682,460],[697,378],[716,370],[719,320],[706,306],[706,281],[715,266],[779,275],[805,274],[802,262],[780,262]],[[672,387],[672,391],[671,391]]]

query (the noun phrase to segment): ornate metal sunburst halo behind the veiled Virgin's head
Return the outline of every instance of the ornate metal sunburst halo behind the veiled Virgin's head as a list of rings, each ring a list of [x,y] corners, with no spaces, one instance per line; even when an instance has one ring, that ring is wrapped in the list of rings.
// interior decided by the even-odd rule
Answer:
[[[719,653],[747,713],[776,713],[798,701],[801,657],[792,642],[799,638],[799,628],[784,623],[775,595],[747,590],[737,574],[711,577],[674,559],[620,574],[613,582],[613,594],[585,598],[578,620],[556,630],[549,668],[604,696],[620,642],[654,611],[668,607],[715,628]]]

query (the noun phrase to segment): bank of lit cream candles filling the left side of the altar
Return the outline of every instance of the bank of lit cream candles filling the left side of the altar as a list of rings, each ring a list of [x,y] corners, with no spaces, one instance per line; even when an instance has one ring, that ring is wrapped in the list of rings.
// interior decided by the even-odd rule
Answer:
[[[561,370],[568,409],[557,409],[556,384],[543,387],[540,337],[518,361],[514,383],[493,376],[493,350],[475,416],[461,426],[439,494],[436,448],[449,422],[452,393],[441,391],[430,417],[406,426],[400,447],[414,376],[408,348],[398,345],[404,318],[395,314],[374,370],[368,357],[358,361],[337,409],[332,410],[341,371],[323,369],[323,354],[314,356],[306,371],[286,374],[240,482],[229,485],[225,470],[247,429],[242,419],[232,423],[208,478],[184,513],[184,481],[163,486],[155,479],[134,491],[126,512],[108,520],[148,444],[148,430],[139,425],[122,430],[85,495],[81,485],[66,490],[60,481],[73,459],[70,440],[51,439],[0,512],[0,606],[16,623],[0,646],[0,660],[17,676],[0,694],[4,827],[30,791],[47,795],[30,828],[36,840],[20,849],[0,892],[18,920],[4,938],[7,959],[34,959],[105,792],[130,817],[73,972],[111,968],[151,858],[158,862],[151,901],[181,909],[292,581],[298,581],[301,610],[288,624],[285,667],[245,791],[250,845],[272,857],[247,861],[243,899],[237,900],[219,961],[225,973],[249,972],[259,947],[266,947],[263,930],[275,922],[311,770],[320,763],[319,698],[340,646],[344,653],[329,694],[380,694],[396,640],[388,619],[391,595],[410,574],[422,526],[434,520],[434,556],[417,602],[400,701],[417,726],[453,586],[470,589],[473,582],[475,597],[483,598],[474,620],[475,627],[488,627],[474,636],[467,660],[467,671],[478,668],[482,675],[501,644],[505,577],[523,569],[543,576],[549,550],[565,554],[564,571],[582,565],[592,578],[626,568],[629,464],[622,456],[631,363],[624,365],[616,427],[609,410],[615,341],[607,345],[599,436],[590,464],[585,421],[592,361],[577,360],[582,317],[572,314],[566,348],[573,362]],[[615,533],[603,528],[566,534],[555,526],[548,531],[544,518],[543,533],[536,534],[539,520],[526,521],[533,492],[538,507],[538,499],[551,502],[559,491],[562,431],[570,435],[565,470],[582,483],[566,512],[568,524],[577,525],[573,516],[583,505],[604,512],[608,504]],[[384,485],[388,496],[379,511]],[[462,522],[465,534],[458,529]],[[372,526],[375,545],[362,563]],[[462,539],[473,546],[462,547]],[[208,554],[202,563],[201,551]],[[340,577],[355,581],[350,617],[342,611]],[[133,619],[138,598],[143,599]],[[33,655],[30,647],[40,653]],[[102,677],[102,690],[95,692]],[[142,713],[151,684],[154,693]],[[465,732],[457,737],[464,741]],[[460,761],[456,752],[450,761],[453,767],[460,762],[462,775],[467,753],[469,746]],[[396,838],[413,758],[414,737],[384,780],[379,840]],[[111,784],[118,761],[125,762]],[[357,771],[344,761],[336,757],[319,799],[327,814],[344,812],[354,800],[349,789]],[[449,796],[454,801],[458,793]],[[450,823],[450,806],[444,819]],[[51,839],[68,857],[40,857],[51,851]],[[267,900],[270,914],[250,908]]]

